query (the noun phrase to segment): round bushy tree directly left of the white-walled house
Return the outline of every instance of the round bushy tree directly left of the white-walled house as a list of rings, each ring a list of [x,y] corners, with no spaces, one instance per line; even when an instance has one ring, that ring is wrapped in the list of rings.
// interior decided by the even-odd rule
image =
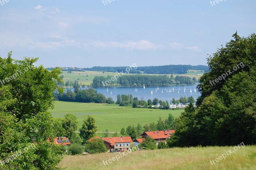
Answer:
[[[95,154],[107,152],[108,149],[106,148],[104,141],[102,139],[92,138],[86,141],[85,151],[91,154]]]

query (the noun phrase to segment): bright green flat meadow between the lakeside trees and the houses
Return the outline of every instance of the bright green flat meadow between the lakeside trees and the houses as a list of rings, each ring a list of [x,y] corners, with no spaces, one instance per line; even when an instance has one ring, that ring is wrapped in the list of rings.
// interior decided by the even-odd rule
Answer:
[[[78,128],[82,127],[84,118],[91,115],[96,119],[98,131],[103,132],[106,128],[110,132],[120,132],[121,128],[127,126],[142,126],[146,123],[157,123],[158,117],[167,119],[168,114],[172,113],[176,118],[183,110],[156,110],[144,108],[132,108],[118,106],[116,104],[96,104],[96,103],[76,103],[55,101],[55,108],[49,110],[54,118],[64,118],[67,113],[73,113],[79,120]]]

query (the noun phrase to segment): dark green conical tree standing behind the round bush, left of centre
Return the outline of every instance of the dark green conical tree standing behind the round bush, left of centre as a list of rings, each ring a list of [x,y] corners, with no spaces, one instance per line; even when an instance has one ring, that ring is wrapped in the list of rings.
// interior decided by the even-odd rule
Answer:
[[[93,138],[96,134],[95,132],[97,131],[97,126],[95,125],[95,119],[92,116],[89,116],[84,119],[84,123],[82,125],[82,128],[79,129],[80,131],[80,136],[86,140],[86,139],[91,139]]]

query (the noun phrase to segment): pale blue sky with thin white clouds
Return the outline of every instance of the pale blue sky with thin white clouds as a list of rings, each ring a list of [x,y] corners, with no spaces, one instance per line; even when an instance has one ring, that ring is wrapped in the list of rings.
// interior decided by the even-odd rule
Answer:
[[[256,30],[255,0],[0,1],[0,56],[44,67],[207,65]]]

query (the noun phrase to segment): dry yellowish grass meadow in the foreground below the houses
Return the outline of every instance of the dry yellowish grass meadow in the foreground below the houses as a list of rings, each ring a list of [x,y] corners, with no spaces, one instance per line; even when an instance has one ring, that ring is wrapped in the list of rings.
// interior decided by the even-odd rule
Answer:
[[[256,146],[240,147],[225,159],[210,163],[234,147],[190,147],[125,153],[123,158],[108,162],[118,153],[66,156],[60,167],[67,169],[256,169]],[[117,157],[118,158],[118,157]]]

